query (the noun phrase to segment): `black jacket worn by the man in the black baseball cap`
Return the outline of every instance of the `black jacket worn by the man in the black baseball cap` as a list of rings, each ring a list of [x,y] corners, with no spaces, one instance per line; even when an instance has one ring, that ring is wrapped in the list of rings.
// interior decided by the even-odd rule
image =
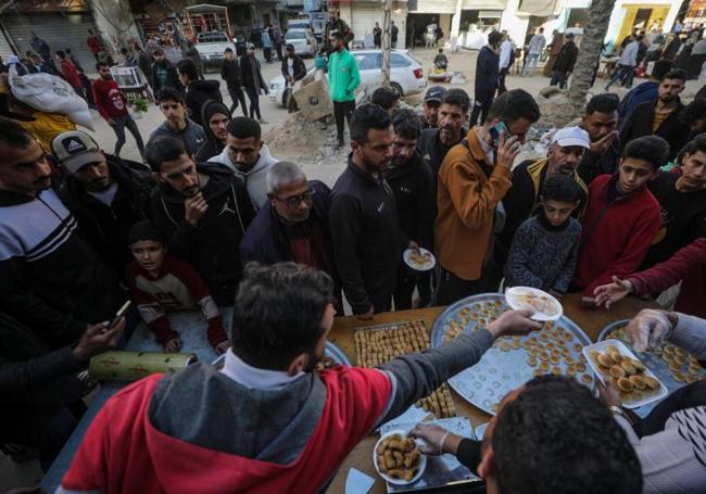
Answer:
[[[122,279],[125,267],[133,258],[127,245],[127,233],[133,225],[147,217],[144,207],[154,180],[147,173],[140,174],[128,168],[117,156],[105,157],[111,178],[117,185],[111,206],[86,192],[73,176],[66,179],[62,199],[76,217],[81,237]]]

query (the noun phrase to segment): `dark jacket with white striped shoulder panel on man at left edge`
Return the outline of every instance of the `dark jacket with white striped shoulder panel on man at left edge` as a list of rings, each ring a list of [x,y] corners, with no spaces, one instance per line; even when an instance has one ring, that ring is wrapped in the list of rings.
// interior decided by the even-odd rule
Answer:
[[[52,190],[36,199],[0,191],[0,305],[52,347],[123,303],[117,278],[79,236]]]

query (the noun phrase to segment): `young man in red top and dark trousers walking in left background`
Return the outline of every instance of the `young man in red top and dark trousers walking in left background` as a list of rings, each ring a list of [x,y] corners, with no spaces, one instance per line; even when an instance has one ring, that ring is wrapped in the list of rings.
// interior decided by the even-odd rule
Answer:
[[[96,64],[96,69],[100,78],[92,83],[93,101],[96,102],[96,110],[105,118],[108,125],[113,127],[113,131],[117,137],[113,154],[121,155],[121,149],[125,143],[125,127],[127,127],[135,138],[135,142],[137,142],[137,149],[140,150],[142,161],[144,161],[144,143],[142,142],[142,136],[140,136],[140,129],[127,111],[128,102],[117,87],[117,83],[113,79],[110,65],[99,62]]]

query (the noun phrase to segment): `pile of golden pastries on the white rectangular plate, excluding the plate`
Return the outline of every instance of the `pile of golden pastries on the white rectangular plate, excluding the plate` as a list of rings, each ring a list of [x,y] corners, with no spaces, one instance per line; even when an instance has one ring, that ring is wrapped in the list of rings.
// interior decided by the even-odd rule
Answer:
[[[613,380],[620,391],[622,403],[636,402],[657,393],[661,384],[645,373],[645,365],[620,353],[615,345],[607,345],[604,352],[593,350],[591,359],[606,379]]]

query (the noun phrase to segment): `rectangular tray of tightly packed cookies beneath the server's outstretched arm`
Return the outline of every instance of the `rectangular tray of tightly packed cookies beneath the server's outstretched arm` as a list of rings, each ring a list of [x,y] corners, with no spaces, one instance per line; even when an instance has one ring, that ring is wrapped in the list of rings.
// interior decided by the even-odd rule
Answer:
[[[429,347],[429,333],[424,320],[393,322],[358,328],[355,331],[357,363],[362,367],[375,367],[392,358]],[[416,410],[405,413],[400,420],[424,420],[456,416],[451,392],[442,384],[429,396],[419,400]]]

